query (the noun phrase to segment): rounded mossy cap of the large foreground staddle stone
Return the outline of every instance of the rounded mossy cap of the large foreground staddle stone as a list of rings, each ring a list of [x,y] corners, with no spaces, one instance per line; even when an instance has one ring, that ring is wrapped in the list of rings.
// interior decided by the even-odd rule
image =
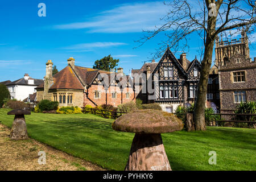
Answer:
[[[160,110],[136,110],[117,118],[113,125],[116,131],[141,134],[160,134],[183,129],[181,119]]]

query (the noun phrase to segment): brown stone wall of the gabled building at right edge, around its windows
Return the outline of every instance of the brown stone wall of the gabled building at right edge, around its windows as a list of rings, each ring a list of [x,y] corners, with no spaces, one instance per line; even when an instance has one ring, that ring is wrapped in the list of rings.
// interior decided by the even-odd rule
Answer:
[[[240,59],[240,63],[237,63]],[[234,82],[233,72],[245,72],[245,81]],[[232,113],[238,103],[234,102],[234,91],[245,91],[246,101],[256,100],[256,63],[237,53],[226,65],[219,67],[221,113]]]

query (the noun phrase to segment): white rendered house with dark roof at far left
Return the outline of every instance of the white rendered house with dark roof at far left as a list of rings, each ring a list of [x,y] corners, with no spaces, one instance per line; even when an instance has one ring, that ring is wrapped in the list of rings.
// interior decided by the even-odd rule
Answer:
[[[43,80],[31,78],[26,73],[23,78],[6,84],[6,87],[9,89],[11,99],[15,98],[18,101],[23,101],[29,94],[34,94],[36,92],[35,88],[42,82]]]

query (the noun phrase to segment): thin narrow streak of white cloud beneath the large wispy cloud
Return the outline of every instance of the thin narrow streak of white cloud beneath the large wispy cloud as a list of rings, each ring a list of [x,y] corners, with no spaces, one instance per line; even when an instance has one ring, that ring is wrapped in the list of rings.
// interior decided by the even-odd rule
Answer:
[[[73,46],[64,47],[64,49],[84,49],[84,48],[93,48],[93,47],[112,47],[112,46],[123,46],[127,45],[122,42],[93,42],[93,43],[84,43],[76,44]]]

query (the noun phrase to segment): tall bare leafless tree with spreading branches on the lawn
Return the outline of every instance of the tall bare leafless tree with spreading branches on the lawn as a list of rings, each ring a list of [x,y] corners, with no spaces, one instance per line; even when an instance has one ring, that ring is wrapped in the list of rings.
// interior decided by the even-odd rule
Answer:
[[[204,49],[193,119],[196,130],[205,130],[204,109],[214,40],[218,34],[224,34],[233,29],[241,31],[243,28],[248,34],[254,31],[255,1],[173,0],[170,3],[164,2],[164,4],[170,7],[170,11],[162,19],[163,25],[156,27],[154,31],[144,31],[147,34],[137,42],[139,46],[142,46],[147,40],[165,32],[167,39],[161,42],[156,50],[155,57],[158,57],[165,50],[166,44],[169,44],[174,51],[181,48],[184,50],[189,48],[188,35],[196,33],[199,36]]]

